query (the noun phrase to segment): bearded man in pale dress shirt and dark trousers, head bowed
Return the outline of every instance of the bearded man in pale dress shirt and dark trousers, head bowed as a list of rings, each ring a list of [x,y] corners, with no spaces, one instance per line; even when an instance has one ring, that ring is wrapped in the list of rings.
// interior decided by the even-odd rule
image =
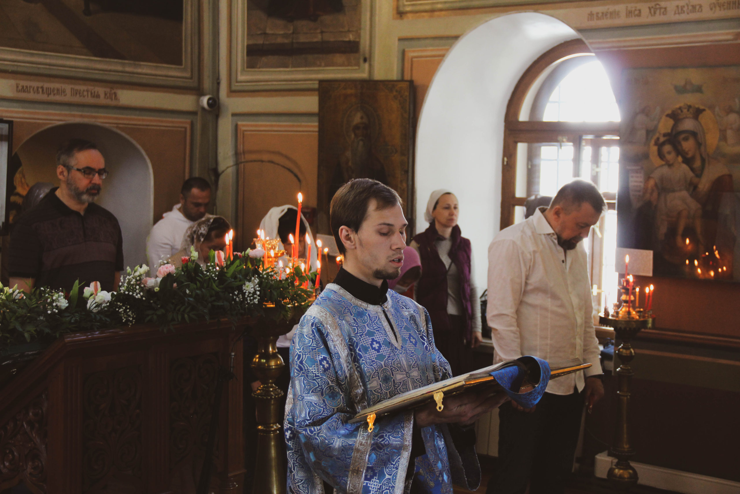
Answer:
[[[505,228],[488,247],[494,362],[524,355],[591,368],[551,381],[531,410],[499,409],[499,462],[488,493],[556,494],[571,473],[584,402],[604,395],[586,252],[605,202],[588,181],[564,185],[550,207]]]

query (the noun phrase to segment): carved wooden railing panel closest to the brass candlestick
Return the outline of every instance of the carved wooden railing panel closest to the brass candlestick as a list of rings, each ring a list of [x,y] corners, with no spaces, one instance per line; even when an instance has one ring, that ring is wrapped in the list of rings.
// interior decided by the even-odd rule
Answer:
[[[216,353],[177,358],[169,365],[170,487],[177,493],[195,492],[198,485],[217,378]]]

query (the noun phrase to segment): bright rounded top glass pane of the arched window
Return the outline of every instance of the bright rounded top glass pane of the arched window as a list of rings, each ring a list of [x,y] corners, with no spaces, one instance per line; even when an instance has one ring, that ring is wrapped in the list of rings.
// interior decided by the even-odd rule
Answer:
[[[555,88],[544,121],[619,121],[619,107],[598,60],[576,67]]]

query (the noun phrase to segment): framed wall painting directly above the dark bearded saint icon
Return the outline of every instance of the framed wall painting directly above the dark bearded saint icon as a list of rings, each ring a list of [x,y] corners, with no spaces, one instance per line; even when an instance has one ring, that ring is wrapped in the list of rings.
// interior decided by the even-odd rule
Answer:
[[[232,90],[367,79],[370,0],[232,1]]]

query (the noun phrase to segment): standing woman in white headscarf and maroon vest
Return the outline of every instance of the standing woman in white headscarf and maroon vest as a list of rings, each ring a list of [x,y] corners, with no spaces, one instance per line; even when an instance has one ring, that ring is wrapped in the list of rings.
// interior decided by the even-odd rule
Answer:
[[[472,349],[482,341],[473,253],[457,216],[457,197],[450,190],[435,190],[424,213],[429,227],[411,241],[421,258],[416,300],[429,313],[435,344],[453,375],[474,370]]]

